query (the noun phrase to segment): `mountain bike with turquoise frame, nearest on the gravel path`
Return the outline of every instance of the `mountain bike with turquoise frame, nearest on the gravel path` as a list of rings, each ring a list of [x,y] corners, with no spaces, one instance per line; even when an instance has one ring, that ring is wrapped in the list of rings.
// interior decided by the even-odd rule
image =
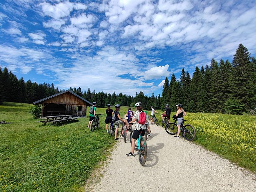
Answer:
[[[131,142],[131,137],[133,136],[134,131],[135,130],[131,130],[130,142]],[[144,166],[146,163],[146,159],[147,159],[147,149],[148,148],[147,148],[146,138],[144,136],[141,136],[141,134],[142,134],[142,130],[140,131],[139,138],[135,140],[135,147],[137,147],[137,150],[138,150],[140,164],[142,166]],[[135,150],[136,150],[136,148],[135,148]]]

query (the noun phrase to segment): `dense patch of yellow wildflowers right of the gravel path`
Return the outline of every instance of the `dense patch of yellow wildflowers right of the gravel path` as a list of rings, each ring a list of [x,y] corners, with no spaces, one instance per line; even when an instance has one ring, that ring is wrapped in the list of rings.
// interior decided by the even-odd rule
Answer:
[[[256,116],[188,113],[185,119],[196,129],[196,142],[211,145],[213,151],[223,146],[221,155],[229,151],[226,156],[233,156],[232,161],[249,161],[256,170]]]

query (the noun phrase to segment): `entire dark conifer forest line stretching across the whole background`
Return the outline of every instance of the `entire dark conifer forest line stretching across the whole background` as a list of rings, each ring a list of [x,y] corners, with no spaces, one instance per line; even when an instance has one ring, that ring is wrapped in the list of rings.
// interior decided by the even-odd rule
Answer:
[[[162,95],[151,97],[140,93],[135,96],[115,92],[96,93],[88,88],[83,92],[81,88],[70,88],[87,101],[96,101],[97,106],[103,108],[106,104],[120,104],[121,106],[134,106],[141,102],[145,110],[150,106],[165,110],[165,104],[170,104],[171,111],[176,111],[176,104],[183,104],[185,111],[206,113],[242,114],[256,108],[256,60],[248,49],[239,44],[233,62],[222,59],[218,63],[214,59],[208,65],[196,66],[192,78],[184,68],[180,79],[172,74],[170,83],[165,78]],[[39,99],[65,91],[54,87],[53,83],[32,83],[23,78],[17,79],[7,68],[0,66],[0,104],[3,101],[18,103],[33,103]]]

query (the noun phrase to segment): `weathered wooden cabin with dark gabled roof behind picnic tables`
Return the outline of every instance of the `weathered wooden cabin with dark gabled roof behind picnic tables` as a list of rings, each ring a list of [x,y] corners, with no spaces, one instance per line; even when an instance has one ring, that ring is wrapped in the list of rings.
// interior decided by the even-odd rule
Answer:
[[[86,107],[93,104],[70,90],[66,90],[33,102],[42,104],[42,117],[55,115],[86,116]]]

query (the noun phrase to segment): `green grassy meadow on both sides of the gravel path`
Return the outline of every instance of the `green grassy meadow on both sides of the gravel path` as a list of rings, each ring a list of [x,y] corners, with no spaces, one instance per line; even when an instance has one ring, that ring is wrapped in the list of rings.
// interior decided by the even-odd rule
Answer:
[[[106,134],[105,109],[97,108],[96,113],[103,113],[101,126],[91,132],[88,118],[43,126],[28,114],[30,106],[0,106],[0,121],[11,122],[0,124],[0,191],[83,191],[86,179],[115,145]],[[121,107],[120,114],[126,111]],[[256,171],[256,116],[189,113],[185,119],[196,128],[196,143]]]

